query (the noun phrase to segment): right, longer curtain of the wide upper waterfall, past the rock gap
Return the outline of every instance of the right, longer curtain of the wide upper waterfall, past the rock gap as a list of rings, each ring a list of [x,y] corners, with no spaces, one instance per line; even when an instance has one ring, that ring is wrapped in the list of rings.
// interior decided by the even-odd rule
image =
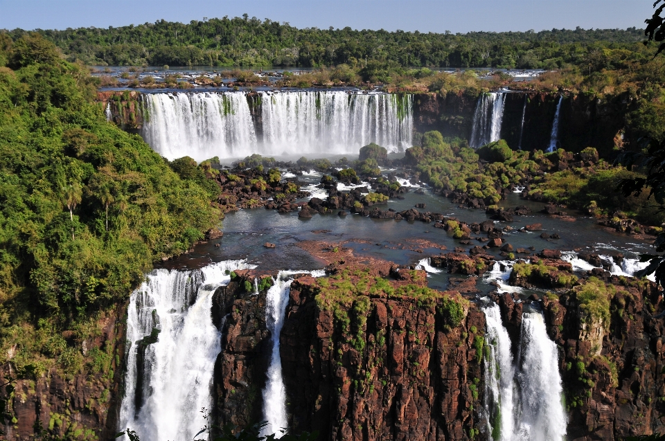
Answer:
[[[411,147],[411,96],[344,91],[263,93],[263,150],[272,154],[353,154],[377,143]]]

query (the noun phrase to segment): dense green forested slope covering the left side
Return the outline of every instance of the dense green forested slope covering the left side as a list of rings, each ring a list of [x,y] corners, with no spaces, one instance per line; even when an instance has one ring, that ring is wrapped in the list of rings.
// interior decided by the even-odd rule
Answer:
[[[80,350],[96,318],[218,224],[217,188],[107,123],[93,78],[50,42],[0,42],[1,358],[25,375],[96,370]]]

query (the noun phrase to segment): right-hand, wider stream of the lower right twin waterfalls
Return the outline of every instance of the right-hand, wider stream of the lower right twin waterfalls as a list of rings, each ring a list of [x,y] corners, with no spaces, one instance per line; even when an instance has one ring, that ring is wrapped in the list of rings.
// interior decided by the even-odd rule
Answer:
[[[558,350],[547,336],[540,312],[522,314],[520,360],[520,421],[513,440],[562,441],[567,417],[562,404]]]

